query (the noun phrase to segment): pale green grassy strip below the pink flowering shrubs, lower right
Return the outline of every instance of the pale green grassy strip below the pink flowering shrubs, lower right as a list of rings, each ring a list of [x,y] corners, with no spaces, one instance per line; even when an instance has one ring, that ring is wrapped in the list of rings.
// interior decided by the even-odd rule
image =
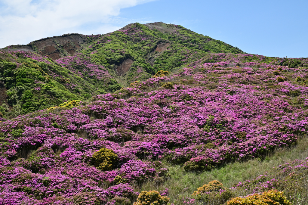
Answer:
[[[149,191],[157,190],[161,191],[165,188],[169,188],[169,197],[171,202],[178,204],[179,199],[188,196],[191,197],[193,191],[196,191],[198,187],[207,184],[212,180],[220,181],[224,187],[233,187],[238,182],[244,182],[247,179],[253,179],[266,172],[271,173],[273,167],[284,164],[286,162],[292,162],[294,160],[303,160],[308,156],[308,138],[304,137],[298,141],[298,146],[291,149],[278,149],[273,153],[268,154],[264,161],[249,160],[246,162],[234,162],[229,163],[211,171],[204,172],[185,172],[181,166],[172,166],[167,162],[164,162],[169,169],[171,178],[164,182],[159,187],[155,187],[153,182],[147,182],[136,191]],[[306,180],[306,187],[308,182]],[[182,191],[187,188],[185,191]],[[283,191],[283,190],[282,190]],[[307,195],[308,191],[304,190],[302,195]],[[304,199],[302,199],[303,201]],[[305,199],[306,200],[306,199]]]

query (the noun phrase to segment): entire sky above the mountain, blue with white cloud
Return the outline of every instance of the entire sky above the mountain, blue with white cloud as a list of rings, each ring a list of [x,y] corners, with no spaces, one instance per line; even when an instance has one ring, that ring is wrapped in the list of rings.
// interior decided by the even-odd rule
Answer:
[[[308,57],[308,1],[0,0],[0,47],[66,33],[104,34],[128,23],[180,24],[275,57]]]

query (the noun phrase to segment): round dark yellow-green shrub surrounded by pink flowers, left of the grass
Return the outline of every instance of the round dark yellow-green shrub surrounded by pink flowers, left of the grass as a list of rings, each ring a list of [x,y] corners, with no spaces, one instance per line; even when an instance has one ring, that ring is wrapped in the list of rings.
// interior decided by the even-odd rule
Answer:
[[[112,170],[118,160],[118,155],[116,155],[112,150],[108,150],[106,148],[102,148],[92,155],[92,162],[94,166],[103,171]]]

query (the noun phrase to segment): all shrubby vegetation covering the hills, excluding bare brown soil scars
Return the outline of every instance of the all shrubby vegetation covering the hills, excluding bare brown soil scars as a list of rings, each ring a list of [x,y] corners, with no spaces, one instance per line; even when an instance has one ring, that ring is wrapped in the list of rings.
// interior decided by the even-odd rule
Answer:
[[[0,51],[0,204],[308,203],[307,59],[151,25]]]

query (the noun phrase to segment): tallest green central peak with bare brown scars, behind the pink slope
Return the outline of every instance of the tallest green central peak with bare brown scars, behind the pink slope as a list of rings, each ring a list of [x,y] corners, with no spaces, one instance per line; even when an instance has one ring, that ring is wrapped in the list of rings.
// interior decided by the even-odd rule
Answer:
[[[194,62],[207,52],[243,53],[222,41],[165,23],[129,24],[83,50],[128,84],[145,80],[159,69],[170,71]]]

